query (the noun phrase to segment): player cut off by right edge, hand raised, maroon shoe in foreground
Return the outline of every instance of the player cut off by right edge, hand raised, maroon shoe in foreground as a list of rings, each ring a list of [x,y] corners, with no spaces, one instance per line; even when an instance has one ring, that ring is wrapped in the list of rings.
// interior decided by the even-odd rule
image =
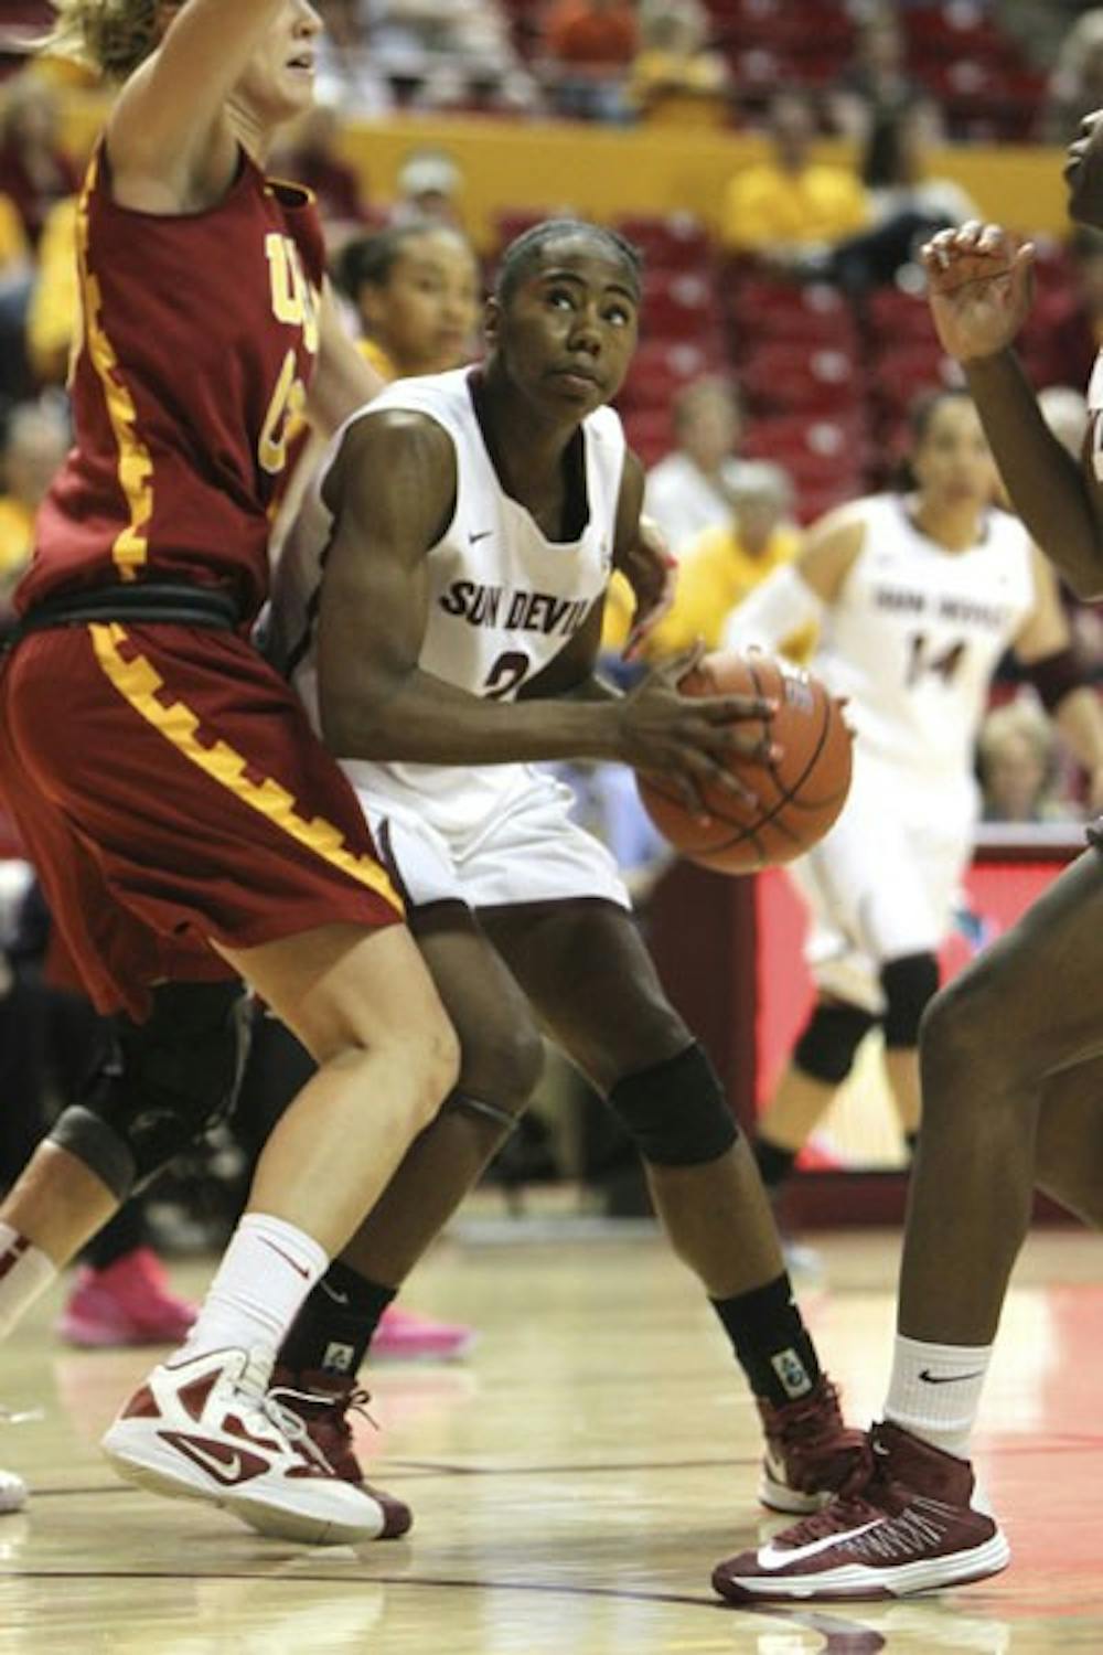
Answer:
[[[1103,111],[1065,177],[1103,230]],[[1080,597],[1103,596],[1103,367],[1080,463],[1047,430],[1014,353],[1030,245],[997,225],[924,248],[931,309],[957,357],[1015,511]],[[885,1597],[982,1579],[1007,1542],[977,1498],[969,1440],[1037,1185],[1103,1223],[1103,861],[1090,849],[928,1008],[923,1132],[911,1178],[885,1422],[845,1496],[769,1547],[721,1564],[747,1599]],[[1052,1470],[1047,1475],[1053,1475]],[[1075,1513],[1070,1521],[1077,1521]]]

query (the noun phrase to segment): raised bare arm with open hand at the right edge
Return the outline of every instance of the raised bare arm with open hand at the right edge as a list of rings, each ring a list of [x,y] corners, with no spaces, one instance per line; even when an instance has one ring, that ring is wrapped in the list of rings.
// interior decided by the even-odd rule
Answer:
[[[1030,243],[999,225],[941,230],[923,250],[931,314],[964,371],[1004,485],[1030,536],[1082,597],[1103,592],[1095,485],[1047,427],[1012,349],[1030,309]]]

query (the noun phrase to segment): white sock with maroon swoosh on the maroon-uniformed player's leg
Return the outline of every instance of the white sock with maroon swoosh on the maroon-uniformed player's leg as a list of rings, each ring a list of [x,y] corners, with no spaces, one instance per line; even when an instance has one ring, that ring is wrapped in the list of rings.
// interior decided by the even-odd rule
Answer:
[[[268,1213],[246,1213],[230,1236],[180,1357],[258,1344],[276,1350],[327,1264],[327,1253],[304,1230]]]

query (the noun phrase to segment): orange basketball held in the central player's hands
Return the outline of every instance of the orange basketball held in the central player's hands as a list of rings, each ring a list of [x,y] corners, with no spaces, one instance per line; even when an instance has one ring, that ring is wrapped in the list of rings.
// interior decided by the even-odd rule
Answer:
[[[693,818],[663,778],[638,775],[640,798],[663,837],[719,874],[752,874],[809,851],[842,811],[850,788],[852,735],[840,703],[812,674],[757,654],[706,655],[680,688],[685,695],[776,700],[777,712],[762,733],[782,755],[766,763],[736,758],[731,770],[757,803],[706,786],[708,821]]]

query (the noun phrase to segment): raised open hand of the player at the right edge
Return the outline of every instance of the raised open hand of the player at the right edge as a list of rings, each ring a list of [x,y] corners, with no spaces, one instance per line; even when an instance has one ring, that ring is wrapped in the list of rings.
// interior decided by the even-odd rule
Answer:
[[[972,218],[939,230],[919,257],[943,349],[959,362],[1007,349],[1034,298],[1034,243]]]

